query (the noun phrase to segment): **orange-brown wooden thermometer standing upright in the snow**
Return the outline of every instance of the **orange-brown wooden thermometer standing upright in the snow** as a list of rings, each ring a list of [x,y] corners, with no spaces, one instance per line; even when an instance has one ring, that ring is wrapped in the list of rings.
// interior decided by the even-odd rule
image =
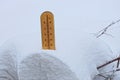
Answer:
[[[41,15],[42,48],[55,50],[54,15],[46,11]]]

